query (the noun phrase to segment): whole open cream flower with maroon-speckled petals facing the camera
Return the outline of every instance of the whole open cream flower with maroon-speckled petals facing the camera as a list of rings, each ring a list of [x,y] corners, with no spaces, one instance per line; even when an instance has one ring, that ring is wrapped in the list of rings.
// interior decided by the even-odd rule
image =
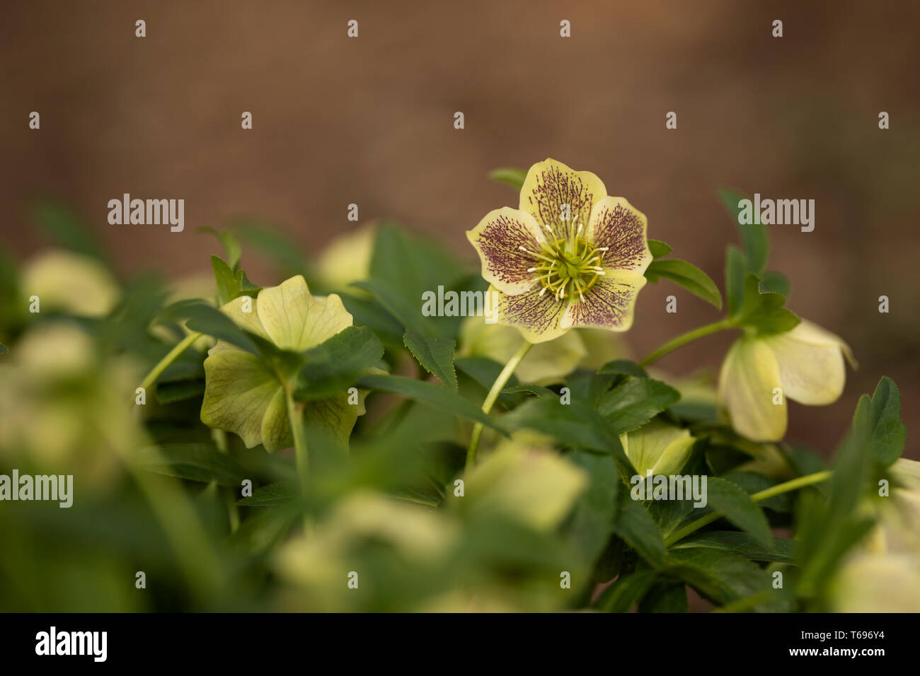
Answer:
[[[645,214],[600,178],[553,159],[530,167],[518,209],[466,233],[501,324],[532,343],[571,327],[626,331],[651,262]]]

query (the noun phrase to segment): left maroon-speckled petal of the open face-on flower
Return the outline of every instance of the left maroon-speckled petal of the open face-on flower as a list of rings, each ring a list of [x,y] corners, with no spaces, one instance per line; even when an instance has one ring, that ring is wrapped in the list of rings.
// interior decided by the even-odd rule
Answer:
[[[540,260],[527,251],[539,253],[546,237],[529,213],[511,207],[496,209],[468,231],[466,238],[482,261],[483,279],[500,292],[523,293],[537,283],[537,274],[527,270]]]

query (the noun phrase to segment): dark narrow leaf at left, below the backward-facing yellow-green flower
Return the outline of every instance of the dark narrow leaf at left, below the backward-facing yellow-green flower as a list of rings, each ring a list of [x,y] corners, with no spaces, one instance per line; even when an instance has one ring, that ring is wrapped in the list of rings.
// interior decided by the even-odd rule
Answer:
[[[144,469],[156,474],[235,487],[247,478],[240,464],[211,443],[167,443],[148,446],[138,454]]]

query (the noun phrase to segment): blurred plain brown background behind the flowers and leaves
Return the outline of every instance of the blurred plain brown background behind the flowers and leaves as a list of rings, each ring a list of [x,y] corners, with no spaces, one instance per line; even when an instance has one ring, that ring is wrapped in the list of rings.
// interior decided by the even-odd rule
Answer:
[[[814,199],[814,232],[771,228],[770,267],[791,279],[792,309],[846,338],[861,367],[835,405],[791,406],[789,438],[830,451],[857,395],[888,374],[918,457],[913,2],[106,0],[7,4],[3,15],[0,232],[17,258],[43,244],[24,209],[40,190],[98,226],[123,276],[207,269],[216,245],[196,227],[240,214],[282,223],[318,252],[354,227],[350,202],[362,221],[395,218],[472,263],[464,231],[517,204],[489,169],[552,156],[598,174],[649,216],[651,237],[721,285],[738,236],[716,189]],[[240,129],[244,110],[252,131]],[[185,232],[109,225],[107,202],[124,192],[184,198]],[[254,281],[278,281],[244,257]],[[669,293],[676,315],[664,312]],[[661,282],[640,295],[628,338],[642,354],[716,317]],[[729,341],[707,338],[662,365],[718,368]]]

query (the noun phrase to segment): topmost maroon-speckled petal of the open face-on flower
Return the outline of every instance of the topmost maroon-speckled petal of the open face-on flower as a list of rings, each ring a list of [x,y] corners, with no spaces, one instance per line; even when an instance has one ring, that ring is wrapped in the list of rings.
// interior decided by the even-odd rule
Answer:
[[[520,208],[537,223],[552,228],[557,238],[569,238],[581,224],[587,230],[594,204],[606,197],[604,181],[590,171],[575,171],[554,159],[530,167],[521,189]],[[568,205],[565,210],[563,205]],[[568,211],[569,220],[564,220]]]

